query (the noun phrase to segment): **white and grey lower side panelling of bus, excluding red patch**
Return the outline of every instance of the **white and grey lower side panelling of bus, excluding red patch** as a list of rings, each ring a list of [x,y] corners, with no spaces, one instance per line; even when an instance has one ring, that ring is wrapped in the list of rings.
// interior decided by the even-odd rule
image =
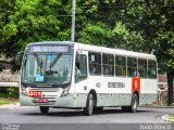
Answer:
[[[122,87],[109,87],[109,82],[122,82]],[[100,83],[100,87],[97,84]],[[85,84],[87,90],[84,89]],[[90,76],[87,80],[75,86],[75,107],[85,107],[87,94],[90,90],[97,93],[97,106],[126,106],[132,101],[132,78]],[[157,80],[140,79],[139,104],[147,104],[157,101]]]

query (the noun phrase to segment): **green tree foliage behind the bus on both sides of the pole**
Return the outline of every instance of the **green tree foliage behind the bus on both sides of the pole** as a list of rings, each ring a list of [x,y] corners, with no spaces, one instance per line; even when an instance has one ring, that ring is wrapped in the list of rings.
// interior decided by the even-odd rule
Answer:
[[[154,53],[174,73],[173,4],[152,0],[76,0],[76,41]],[[72,0],[1,0],[0,54],[27,43],[70,40]]]

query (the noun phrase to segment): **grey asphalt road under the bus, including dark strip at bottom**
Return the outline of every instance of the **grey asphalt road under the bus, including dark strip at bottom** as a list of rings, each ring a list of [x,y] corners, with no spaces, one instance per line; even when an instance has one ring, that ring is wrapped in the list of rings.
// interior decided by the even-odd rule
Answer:
[[[51,108],[48,114],[40,114],[38,107],[1,107],[0,130],[18,127],[15,125],[20,125],[18,130],[139,130],[154,129],[156,125],[166,125],[170,129],[167,125],[172,125],[171,130],[174,130],[173,122],[161,118],[169,114],[174,114],[174,108],[139,107],[137,113],[123,113],[120,107],[112,107],[85,116],[83,110],[74,109]]]

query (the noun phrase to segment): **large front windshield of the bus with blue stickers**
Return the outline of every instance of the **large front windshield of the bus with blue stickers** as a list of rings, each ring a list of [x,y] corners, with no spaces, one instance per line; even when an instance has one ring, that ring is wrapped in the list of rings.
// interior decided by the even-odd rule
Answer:
[[[25,54],[22,82],[57,83],[64,84],[71,81],[72,55],[71,54]]]

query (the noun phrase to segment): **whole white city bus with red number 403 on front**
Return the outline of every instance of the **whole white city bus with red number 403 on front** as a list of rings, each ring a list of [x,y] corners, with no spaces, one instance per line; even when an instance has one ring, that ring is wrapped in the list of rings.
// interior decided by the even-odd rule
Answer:
[[[152,54],[71,41],[29,43],[23,55],[22,106],[80,108],[86,115],[103,107],[136,112],[157,101],[157,58]]]

